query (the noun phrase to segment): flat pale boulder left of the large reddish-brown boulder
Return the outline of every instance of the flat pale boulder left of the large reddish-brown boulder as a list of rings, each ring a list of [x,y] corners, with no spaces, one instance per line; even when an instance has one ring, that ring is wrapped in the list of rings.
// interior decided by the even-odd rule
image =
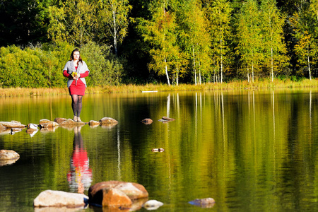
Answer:
[[[88,203],[88,196],[69,192],[46,190],[37,196],[33,205],[35,207],[84,207]]]

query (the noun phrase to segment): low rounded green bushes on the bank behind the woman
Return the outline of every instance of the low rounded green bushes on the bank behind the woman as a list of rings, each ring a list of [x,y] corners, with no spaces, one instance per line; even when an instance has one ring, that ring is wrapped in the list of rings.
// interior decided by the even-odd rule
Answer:
[[[67,79],[63,68],[70,59],[72,45],[61,42],[21,49],[16,46],[0,49],[0,85],[3,88],[63,88]],[[93,42],[81,48],[83,60],[88,64],[88,86],[119,85],[125,61],[114,57],[110,47]]]

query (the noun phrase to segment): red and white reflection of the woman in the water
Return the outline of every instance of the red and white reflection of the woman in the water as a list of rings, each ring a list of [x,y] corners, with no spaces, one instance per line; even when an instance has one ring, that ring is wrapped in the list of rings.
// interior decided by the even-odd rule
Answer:
[[[89,160],[84,141],[81,136],[81,126],[74,128],[73,155],[71,157],[71,171],[67,175],[71,192],[83,194],[88,190],[92,182],[92,170],[89,168]]]

